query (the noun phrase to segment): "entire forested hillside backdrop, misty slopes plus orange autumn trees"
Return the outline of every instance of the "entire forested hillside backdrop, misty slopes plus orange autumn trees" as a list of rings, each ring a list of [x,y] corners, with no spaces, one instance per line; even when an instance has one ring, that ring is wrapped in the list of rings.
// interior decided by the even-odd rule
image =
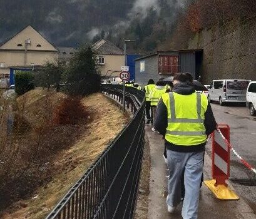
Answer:
[[[184,49],[200,29],[253,16],[255,0],[0,0],[0,41],[27,24],[57,46],[106,38],[138,53]]]

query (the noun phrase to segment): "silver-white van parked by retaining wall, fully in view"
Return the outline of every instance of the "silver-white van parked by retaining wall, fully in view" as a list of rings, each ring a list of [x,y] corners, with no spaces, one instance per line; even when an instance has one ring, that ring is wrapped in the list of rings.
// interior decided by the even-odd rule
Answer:
[[[246,91],[250,80],[213,80],[209,88],[209,101],[224,103],[245,103]]]

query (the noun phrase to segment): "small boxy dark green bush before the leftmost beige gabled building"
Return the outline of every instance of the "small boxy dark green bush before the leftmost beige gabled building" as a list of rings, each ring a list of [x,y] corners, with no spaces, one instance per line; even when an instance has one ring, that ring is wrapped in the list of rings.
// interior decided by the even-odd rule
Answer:
[[[22,95],[31,89],[34,89],[33,73],[31,71],[21,71],[15,74],[15,91]]]

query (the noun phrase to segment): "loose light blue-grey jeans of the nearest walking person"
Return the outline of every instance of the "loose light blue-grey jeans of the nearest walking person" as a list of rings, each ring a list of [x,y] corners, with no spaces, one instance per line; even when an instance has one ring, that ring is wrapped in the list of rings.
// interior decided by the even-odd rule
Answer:
[[[203,151],[182,153],[167,150],[169,178],[167,205],[177,206],[182,198],[182,175],[184,174],[185,197],[183,219],[197,219],[200,183],[203,174]]]

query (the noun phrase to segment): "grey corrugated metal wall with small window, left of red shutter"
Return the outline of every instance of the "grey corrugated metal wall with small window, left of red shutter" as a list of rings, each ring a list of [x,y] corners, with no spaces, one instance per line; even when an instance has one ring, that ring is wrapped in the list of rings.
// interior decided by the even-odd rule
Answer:
[[[144,72],[140,72],[141,61],[145,61]],[[135,77],[136,81],[142,86],[148,84],[148,79],[150,78],[152,78],[155,82],[158,81],[158,55],[135,61]]]

